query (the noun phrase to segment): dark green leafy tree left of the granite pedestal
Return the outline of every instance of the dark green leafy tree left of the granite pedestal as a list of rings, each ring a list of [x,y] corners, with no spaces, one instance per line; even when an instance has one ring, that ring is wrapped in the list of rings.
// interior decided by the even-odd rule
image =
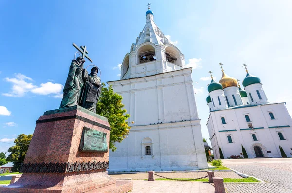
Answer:
[[[33,135],[20,134],[14,140],[15,145],[8,149],[10,154],[7,157],[7,161],[13,162],[13,167],[11,168],[12,172],[18,172],[23,163],[28,146],[32,140]]]

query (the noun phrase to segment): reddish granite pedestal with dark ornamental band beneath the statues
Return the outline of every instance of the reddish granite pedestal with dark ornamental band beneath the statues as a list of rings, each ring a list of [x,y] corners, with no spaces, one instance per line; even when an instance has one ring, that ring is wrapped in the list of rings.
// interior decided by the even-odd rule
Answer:
[[[104,132],[108,151],[80,151],[84,127]],[[20,172],[19,180],[1,187],[0,193],[80,193],[132,190],[130,181],[110,177],[110,124],[80,106],[47,111],[37,120],[36,129]]]

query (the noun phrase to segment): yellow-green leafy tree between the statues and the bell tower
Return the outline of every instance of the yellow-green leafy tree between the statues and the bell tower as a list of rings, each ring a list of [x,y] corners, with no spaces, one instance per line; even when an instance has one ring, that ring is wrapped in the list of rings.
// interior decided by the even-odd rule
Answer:
[[[96,105],[96,113],[108,118],[110,123],[110,149],[115,151],[115,142],[121,142],[129,134],[128,121],[130,115],[125,114],[126,109],[122,109],[125,105],[122,104],[123,97],[113,92],[111,85],[106,87],[102,83],[103,88]]]

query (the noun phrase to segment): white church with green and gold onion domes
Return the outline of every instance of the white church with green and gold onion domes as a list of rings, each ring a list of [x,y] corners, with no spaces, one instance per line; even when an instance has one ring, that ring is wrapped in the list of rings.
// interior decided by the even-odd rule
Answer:
[[[223,64],[219,65],[222,68]],[[246,68],[246,64],[243,66]],[[249,158],[282,157],[279,146],[292,157],[292,120],[286,103],[268,102],[260,78],[247,69],[246,73],[244,90],[223,68],[219,82],[211,74],[207,127],[215,159],[220,159],[219,148],[224,158],[243,157],[242,147]]]

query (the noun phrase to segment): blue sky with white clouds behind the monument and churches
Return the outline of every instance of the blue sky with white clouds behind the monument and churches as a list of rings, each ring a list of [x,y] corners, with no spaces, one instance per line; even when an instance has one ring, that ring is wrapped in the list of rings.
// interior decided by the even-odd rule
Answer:
[[[103,82],[117,80],[117,67],[143,29],[148,1],[0,1],[0,152],[14,138],[32,134],[46,110],[60,105],[62,85],[74,58],[72,43],[86,45]],[[245,77],[243,63],[261,78],[270,102],[287,102],[292,61],[289,0],[151,2],[154,20],[193,66],[203,137],[208,71]],[[85,66],[89,65],[89,61]],[[3,143],[4,142],[4,143]],[[10,143],[10,144],[8,144]]]

